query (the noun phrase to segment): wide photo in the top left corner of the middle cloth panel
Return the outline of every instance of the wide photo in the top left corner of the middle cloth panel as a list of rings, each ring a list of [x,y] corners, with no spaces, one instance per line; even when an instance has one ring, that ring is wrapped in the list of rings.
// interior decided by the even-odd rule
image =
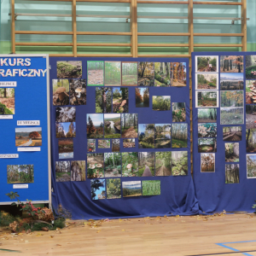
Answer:
[[[57,79],[81,79],[82,61],[57,61]]]

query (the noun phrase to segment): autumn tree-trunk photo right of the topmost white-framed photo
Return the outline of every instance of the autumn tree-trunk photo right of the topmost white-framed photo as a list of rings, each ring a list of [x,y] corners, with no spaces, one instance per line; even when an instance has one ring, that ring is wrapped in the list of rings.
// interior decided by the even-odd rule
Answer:
[[[243,73],[243,56],[220,56],[220,73]]]

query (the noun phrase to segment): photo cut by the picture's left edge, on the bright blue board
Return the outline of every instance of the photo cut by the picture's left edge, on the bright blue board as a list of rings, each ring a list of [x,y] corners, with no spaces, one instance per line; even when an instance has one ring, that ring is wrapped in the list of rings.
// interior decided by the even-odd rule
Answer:
[[[15,88],[0,88],[0,115],[15,114]]]

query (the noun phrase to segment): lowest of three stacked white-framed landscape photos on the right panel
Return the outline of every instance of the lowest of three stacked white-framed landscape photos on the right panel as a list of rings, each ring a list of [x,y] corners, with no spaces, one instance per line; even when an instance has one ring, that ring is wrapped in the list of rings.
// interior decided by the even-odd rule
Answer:
[[[196,90],[195,108],[218,108],[218,90]]]

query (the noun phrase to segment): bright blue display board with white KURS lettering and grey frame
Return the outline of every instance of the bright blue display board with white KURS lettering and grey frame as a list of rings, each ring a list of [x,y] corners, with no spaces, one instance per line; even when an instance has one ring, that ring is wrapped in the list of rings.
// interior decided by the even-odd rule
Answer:
[[[48,55],[0,55],[0,204],[51,201]]]

